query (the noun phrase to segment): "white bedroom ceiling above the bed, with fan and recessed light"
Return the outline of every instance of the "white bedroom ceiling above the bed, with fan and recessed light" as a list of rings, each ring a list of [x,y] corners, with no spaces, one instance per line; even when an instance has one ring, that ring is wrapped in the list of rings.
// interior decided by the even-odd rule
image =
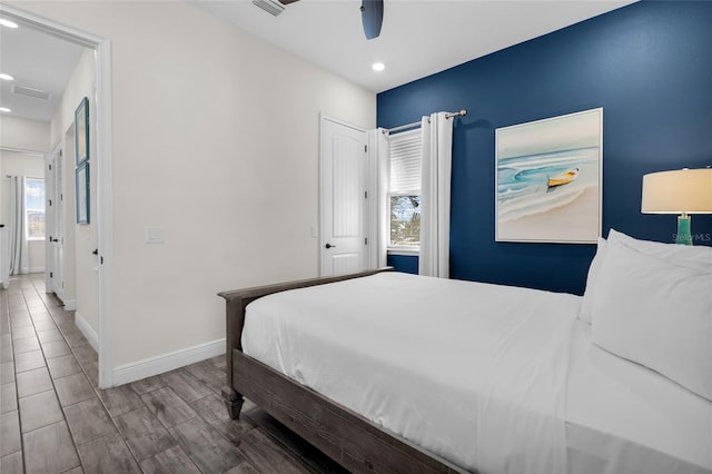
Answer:
[[[360,0],[301,0],[278,17],[250,0],[190,2],[375,92],[632,3],[385,0],[380,36],[366,40]],[[375,61],[386,69],[375,72]]]

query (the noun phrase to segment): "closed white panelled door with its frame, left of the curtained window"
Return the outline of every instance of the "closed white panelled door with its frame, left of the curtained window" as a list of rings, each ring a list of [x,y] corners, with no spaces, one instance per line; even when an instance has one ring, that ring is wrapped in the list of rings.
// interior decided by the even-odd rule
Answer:
[[[366,131],[322,118],[322,276],[366,267]]]

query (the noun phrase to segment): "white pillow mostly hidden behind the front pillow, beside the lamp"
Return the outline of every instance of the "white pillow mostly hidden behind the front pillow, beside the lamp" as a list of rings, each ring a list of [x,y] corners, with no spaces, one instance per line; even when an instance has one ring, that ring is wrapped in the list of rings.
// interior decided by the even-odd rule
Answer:
[[[663,244],[651,240],[639,240],[615,229],[609,231],[609,240],[623,244],[641,254],[661,258],[671,264],[694,268],[705,273],[712,273],[712,247],[690,246],[680,244]],[[592,303],[596,292],[596,278],[599,268],[605,258],[606,240],[599,237],[596,255],[591,260],[586,276],[586,289],[581,302],[578,319],[591,324]]]

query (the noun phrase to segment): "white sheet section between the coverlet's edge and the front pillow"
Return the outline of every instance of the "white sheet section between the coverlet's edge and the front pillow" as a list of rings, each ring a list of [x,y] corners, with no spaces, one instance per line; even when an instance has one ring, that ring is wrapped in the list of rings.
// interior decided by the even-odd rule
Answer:
[[[570,366],[572,472],[712,473],[711,402],[594,345],[582,322],[574,326]]]

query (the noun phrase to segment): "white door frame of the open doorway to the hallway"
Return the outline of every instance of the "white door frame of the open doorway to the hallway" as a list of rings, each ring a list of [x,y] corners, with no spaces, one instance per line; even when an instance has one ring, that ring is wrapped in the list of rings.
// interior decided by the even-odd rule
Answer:
[[[17,7],[0,3],[0,12],[8,19],[31,24],[57,38],[93,49],[96,63],[96,132],[97,144],[97,233],[99,245],[99,387],[113,386],[112,345],[112,103],[111,103],[111,42],[107,38],[81,31]],[[67,223],[68,224],[68,223]]]

